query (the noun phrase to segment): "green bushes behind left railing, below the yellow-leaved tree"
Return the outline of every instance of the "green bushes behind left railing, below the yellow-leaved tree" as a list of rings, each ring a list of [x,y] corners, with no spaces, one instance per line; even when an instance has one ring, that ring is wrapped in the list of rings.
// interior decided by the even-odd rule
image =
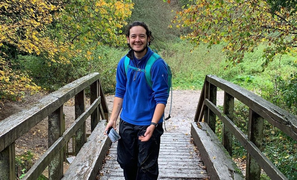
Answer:
[[[83,52],[84,53],[84,52]],[[116,67],[126,51],[109,46],[97,46],[89,51],[89,58],[75,57],[68,64],[45,63],[41,57],[19,56],[15,63],[18,68],[30,72],[34,82],[50,91],[89,73],[99,72],[105,93],[114,93],[116,85]]]

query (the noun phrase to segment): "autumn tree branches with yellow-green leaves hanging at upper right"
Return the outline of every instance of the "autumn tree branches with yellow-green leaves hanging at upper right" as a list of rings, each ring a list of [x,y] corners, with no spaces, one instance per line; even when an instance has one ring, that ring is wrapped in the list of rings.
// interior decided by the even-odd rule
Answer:
[[[190,27],[182,36],[196,46],[208,47],[224,42],[222,51],[233,64],[239,63],[244,53],[253,52],[266,43],[263,66],[277,54],[295,53],[297,47],[296,3],[278,0],[196,0],[183,7],[172,20],[176,27]],[[290,6],[285,6],[286,4]],[[170,25],[172,26],[172,25]]]

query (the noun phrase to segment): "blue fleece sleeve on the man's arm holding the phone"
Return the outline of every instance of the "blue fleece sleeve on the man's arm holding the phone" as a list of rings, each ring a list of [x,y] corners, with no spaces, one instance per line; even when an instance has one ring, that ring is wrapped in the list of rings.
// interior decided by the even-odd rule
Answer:
[[[127,77],[125,73],[124,68],[124,59],[123,57],[118,67],[116,68],[116,95],[115,97],[124,98],[124,95],[126,93],[126,83],[127,83]]]

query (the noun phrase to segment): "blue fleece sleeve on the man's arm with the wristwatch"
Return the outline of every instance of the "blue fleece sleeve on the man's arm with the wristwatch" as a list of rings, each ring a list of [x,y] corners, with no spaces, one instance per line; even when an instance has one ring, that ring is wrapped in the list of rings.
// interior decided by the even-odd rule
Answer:
[[[154,62],[151,68],[151,79],[153,82],[153,98],[156,104],[162,103],[167,104],[167,99],[169,97],[168,93],[168,72],[165,61],[158,59]]]

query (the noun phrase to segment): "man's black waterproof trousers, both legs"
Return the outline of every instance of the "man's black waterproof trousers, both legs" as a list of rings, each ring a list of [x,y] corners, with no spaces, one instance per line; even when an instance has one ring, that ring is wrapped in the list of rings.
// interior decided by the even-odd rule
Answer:
[[[120,119],[118,162],[124,170],[126,180],[157,180],[159,175],[158,156],[160,137],[164,130],[162,123],[155,128],[147,142],[138,140],[148,126],[136,126]]]

